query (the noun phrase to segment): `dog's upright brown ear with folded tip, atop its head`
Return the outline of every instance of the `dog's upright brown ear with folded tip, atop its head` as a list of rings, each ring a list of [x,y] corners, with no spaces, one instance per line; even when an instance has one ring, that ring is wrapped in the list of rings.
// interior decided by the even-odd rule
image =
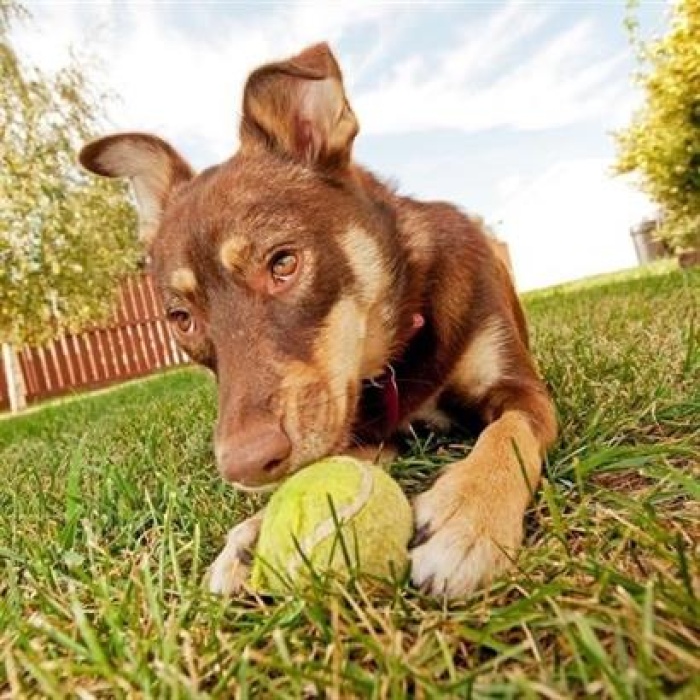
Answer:
[[[243,94],[241,147],[266,147],[323,169],[346,166],[358,131],[327,44],[254,71]]]

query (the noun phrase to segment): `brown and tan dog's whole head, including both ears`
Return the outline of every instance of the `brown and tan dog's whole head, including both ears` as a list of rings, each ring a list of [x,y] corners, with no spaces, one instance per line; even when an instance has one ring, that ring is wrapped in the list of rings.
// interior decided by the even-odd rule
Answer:
[[[342,449],[362,378],[387,359],[394,220],[351,163],[357,131],[318,45],[251,74],[221,165],[196,175],[146,134],[80,155],[131,179],[175,338],[218,378],[220,471],[243,487]]]

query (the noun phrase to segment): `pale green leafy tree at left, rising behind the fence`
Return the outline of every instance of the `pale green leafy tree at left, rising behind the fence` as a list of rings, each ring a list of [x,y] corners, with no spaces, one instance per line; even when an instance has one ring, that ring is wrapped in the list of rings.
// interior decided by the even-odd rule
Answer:
[[[73,61],[54,75],[24,65],[0,0],[0,341],[23,345],[99,322],[138,260],[123,185],[80,171],[102,96]]]

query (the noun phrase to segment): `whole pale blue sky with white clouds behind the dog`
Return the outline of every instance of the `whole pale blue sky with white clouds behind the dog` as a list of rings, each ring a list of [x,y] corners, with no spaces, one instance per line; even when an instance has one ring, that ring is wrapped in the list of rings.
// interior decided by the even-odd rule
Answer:
[[[614,177],[611,136],[641,101],[625,0],[28,2],[23,59],[86,60],[109,129],[151,131],[197,168],[237,146],[261,63],[328,41],[360,122],[355,159],[403,194],[482,216],[521,291],[636,264],[654,207]],[[667,0],[641,0],[647,36]]]

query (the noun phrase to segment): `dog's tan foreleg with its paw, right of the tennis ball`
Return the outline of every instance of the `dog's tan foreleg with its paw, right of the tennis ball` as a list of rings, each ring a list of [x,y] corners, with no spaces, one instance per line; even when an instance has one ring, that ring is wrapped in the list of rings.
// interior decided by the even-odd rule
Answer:
[[[485,397],[492,422],[471,454],[414,504],[415,585],[454,598],[488,583],[515,558],[525,509],[555,435],[551,402],[538,380]]]

